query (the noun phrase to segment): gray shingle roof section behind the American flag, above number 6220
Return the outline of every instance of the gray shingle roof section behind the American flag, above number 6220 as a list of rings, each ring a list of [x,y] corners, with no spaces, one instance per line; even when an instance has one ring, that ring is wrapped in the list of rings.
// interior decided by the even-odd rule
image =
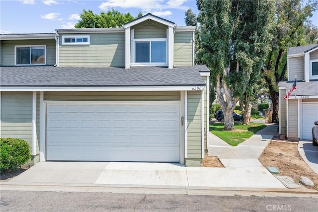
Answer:
[[[286,86],[286,93],[292,87],[294,82],[279,82],[278,86]],[[285,94],[286,94],[285,93]],[[318,81],[297,82],[296,89],[291,96],[318,95]]]

